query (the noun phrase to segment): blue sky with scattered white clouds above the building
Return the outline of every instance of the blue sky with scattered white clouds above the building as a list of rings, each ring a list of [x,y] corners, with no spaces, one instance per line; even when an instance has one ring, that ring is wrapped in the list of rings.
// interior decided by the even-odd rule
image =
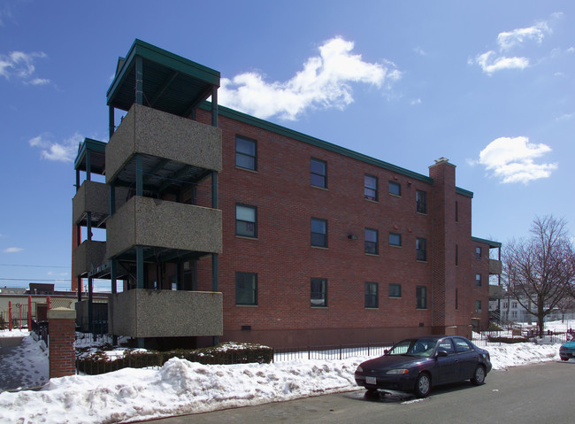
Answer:
[[[574,233],[571,1],[0,2],[0,287],[70,288],[73,158],[107,141],[135,38],[218,70],[219,103],[471,190],[472,233]]]

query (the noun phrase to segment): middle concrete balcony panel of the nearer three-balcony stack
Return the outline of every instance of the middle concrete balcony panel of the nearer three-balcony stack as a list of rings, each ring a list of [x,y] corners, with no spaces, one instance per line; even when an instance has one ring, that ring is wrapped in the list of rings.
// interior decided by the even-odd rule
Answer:
[[[134,196],[108,219],[106,256],[134,246],[221,253],[221,211]]]

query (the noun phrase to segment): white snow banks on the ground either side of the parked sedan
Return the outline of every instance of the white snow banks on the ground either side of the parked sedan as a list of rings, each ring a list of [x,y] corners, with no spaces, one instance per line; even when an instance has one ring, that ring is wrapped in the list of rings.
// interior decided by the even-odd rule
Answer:
[[[575,321],[572,324],[575,327]],[[24,342],[28,347],[22,356],[44,355],[40,347],[31,347],[38,346],[32,336]],[[560,360],[560,344],[487,343],[486,348],[497,370]],[[129,422],[354,390],[353,373],[366,358],[232,366],[172,358],[162,367],[73,375],[51,379],[39,391],[0,393],[0,422]]]

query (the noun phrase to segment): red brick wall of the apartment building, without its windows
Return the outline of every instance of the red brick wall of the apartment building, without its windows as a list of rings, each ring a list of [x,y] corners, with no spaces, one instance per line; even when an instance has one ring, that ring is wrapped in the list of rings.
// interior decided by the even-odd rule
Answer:
[[[210,122],[207,114],[199,118]],[[224,293],[222,340],[273,340],[281,347],[310,340],[332,343],[339,334],[339,343],[350,339],[364,343],[376,341],[372,338],[376,334],[399,338],[430,333],[432,326],[471,323],[463,307],[468,294],[464,288],[469,284],[465,275],[470,274],[463,268],[470,260],[462,261],[471,243],[471,198],[456,196],[455,167],[445,185],[436,182],[432,186],[226,117],[219,116],[219,128],[223,131],[223,171],[219,173],[224,242],[219,255],[219,290]],[[235,167],[235,135],[257,140],[257,172]],[[311,158],[326,161],[327,189],[311,186]],[[378,177],[378,202],[364,199],[365,173]],[[401,184],[401,197],[388,194],[388,181]],[[207,197],[210,179],[202,186],[204,192],[198,198]],[[427,214],[416,212],[417,189],[427,192]],[[456,200],[459,223],[447,225],[455,220]],[[236,203],[257,207],[257,239],[235,236]],[[327,220],[327,249],[310,245],[312,217]],[[379,230],[377,256],[364,253],[365,227]],[[389,232],[402,235],[401,247],[388,245]],[[357,235],[357,240],[348,235]],[[417,237],[427,240],[426,262],[416,260]],[[461,264],[457,268],[449,265],[455,258],[455,241]],[[439,255],[432,256],[434,251]],[[437,261],[442,265],[436,266]],[[257,274],[257,306],[235,305],[235,272]],[[210,258],[198,261],[197,275],[198,289],[211,289]],[[310,305],[312,277],[328,281],[326,308]],[[472,278],[474,285],[474,273]],[[364,308],[365,281],[379,283],[378,309]],[[402,285],[401,298],[388,297],[389,283]],[[426,310],[416,309],[418,285],[428,288]],[[459,291],[457,311],[455,287]],[[242,326],[251,326],[251,331],[241,331]]]

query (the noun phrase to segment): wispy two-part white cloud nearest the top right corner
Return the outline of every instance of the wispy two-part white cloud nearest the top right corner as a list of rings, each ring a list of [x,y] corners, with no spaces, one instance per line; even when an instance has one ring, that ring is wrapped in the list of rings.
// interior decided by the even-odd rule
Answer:
[[[552,16],[555,18],[555,16]],[[530,66],[529,58],[508,55],[509,50],[524,47],[527,43],[540,44],[545,35],[551,33],[547,22],[539,22],[533,27],[517,28],[497,35],[498,51],[489,50],[478,54],[468,63],[479,65],[484,73],[492,75],[504,69],[525,69]]]

